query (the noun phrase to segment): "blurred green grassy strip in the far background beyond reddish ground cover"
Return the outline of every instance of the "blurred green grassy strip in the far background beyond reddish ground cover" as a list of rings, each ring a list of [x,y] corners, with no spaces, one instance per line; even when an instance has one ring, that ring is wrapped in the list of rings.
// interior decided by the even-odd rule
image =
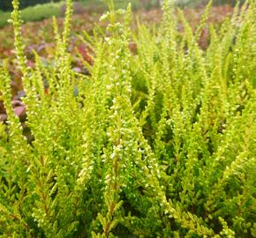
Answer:
[[[207,4],[208,0],[175,0],[179,7],[199,7]],[[60,0],[20,0],[20,9],[25,21],[36,21],[48,19],[52,16],[64,15],[64,1]],[[101,12],[106,10],[106,5],[102,0],[77,0],[74,1],[74,13]],[[159,8],[162,0],[116,0],[117,7],[125,7],[132,2],[133,10],[151,10]],[[214,5],[234,5],[236,0],[214,0]],[[0,27],[7,24],[12,9],[11,0],[0,1]]]

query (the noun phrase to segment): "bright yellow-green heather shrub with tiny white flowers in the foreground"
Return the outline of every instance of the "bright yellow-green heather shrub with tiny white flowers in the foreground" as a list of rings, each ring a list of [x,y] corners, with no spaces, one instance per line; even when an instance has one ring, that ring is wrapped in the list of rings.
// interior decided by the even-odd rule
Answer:
[[[255,1],[209,26],[206,50],[210,4],[196,31],[165,1],[161,26],[135,32],[131,7],[109,1],[107,32],[85,40],[95,54],[87,76],[72,70],[67,5],[55,63],[35,54],[29,68],[13,0],[34,139],[23,136],[3,66],[0,236],[256,237]]]

